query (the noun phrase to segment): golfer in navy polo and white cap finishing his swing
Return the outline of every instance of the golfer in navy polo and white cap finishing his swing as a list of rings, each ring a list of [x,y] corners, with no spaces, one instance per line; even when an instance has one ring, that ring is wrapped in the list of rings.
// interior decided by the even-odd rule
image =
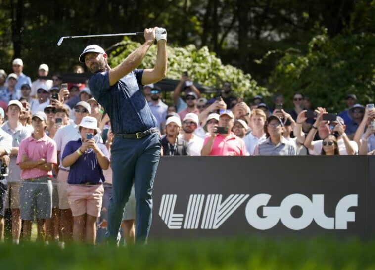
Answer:
[[[93,97],[111,119],[113,194],[108,207],[108,242],[118,242],[124,206],[134,180],[136,195],[136,243],[145,243],[151,225],[152,185],[159,164],[161,139],[158,123],[139,88],[166,77],[167,31],[144,30],[145,42],[121,64],[111,69],[107,54],[98,45],[87,46],[79,60],[94,75],[89,80]],[[136,69],[157,41],[154,68]]]

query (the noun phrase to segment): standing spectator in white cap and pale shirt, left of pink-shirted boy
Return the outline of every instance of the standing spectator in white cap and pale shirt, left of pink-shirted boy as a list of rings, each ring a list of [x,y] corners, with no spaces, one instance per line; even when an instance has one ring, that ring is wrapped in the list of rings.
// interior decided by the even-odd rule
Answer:
[[[31,131],[23,127],[20,123],[20,115],[23,106],[18,100],[11,100],[8,104],[6,110],[6,115],[8,121],[2,125],[2,129],[9,135],[12,136],[12,149],[10,152],[10,162],[9,162],[9,176],[7,198],[5,202],[5,207],[10,208],[12,212],[12,237],[13,243],[18,244],[21,234],[21,216],[20,216],[20,174],[21,170],[17,166],[17,155],[20,143],[22,140],[30,137]]]

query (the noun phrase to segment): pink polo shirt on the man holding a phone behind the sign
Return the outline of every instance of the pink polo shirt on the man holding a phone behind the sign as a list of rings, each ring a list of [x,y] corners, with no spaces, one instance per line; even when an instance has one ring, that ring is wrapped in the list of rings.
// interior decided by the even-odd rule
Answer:
[[[206,145],[210,136],[204,139],[203,145]],[[216,135],[210,152],[210,156],[246,156],[246,146],[244,141],[234,135],[233,132],[227,137],[221,134]]]

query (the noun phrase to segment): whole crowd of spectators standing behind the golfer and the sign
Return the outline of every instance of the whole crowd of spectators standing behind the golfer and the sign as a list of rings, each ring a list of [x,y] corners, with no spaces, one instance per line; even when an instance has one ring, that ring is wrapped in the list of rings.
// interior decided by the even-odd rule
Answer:
[[[12,70],[8,75],[0,70],[0,239],[4,211],[11,209],[14,243],[19,243],[21,227],[24,239],[30,239],[34,215],[40,240],[94,243],[102,184],[111,181],[110,119],[87,83],[63,82],[58,73],[49,76],[47,64],[39,66],[32,81],[21,59],[12,62]],[[75,72],[83,72],[82,67]],[[187,73],[173,91],[172,104],[163,102],[162,90],[153,84],[142,90],[157,120],[164,156],[375,153],[374,105],[358,104],[354,94],[346,98],[347,109],[336,114],[311,108],[302,93],[295,93],[290,110],[283,107],[282,94],[274,96],[273,104],[260,95],[246,104],[230,82],[208,98]],[[135,214],[125,212],[130,243]]]

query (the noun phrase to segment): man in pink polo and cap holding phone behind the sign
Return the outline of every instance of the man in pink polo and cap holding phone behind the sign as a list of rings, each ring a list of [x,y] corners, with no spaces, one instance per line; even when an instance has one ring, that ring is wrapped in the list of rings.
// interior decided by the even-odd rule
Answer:
[[[230,111],[223,112],[219,117],[219,126],[214,133],[206,137],[201,151],[202,156],[245,156],[246,146],[242,139],[234,135],[232,128],[234,115]],[[227,128],[227,133],[217,134],[219,127]]]

